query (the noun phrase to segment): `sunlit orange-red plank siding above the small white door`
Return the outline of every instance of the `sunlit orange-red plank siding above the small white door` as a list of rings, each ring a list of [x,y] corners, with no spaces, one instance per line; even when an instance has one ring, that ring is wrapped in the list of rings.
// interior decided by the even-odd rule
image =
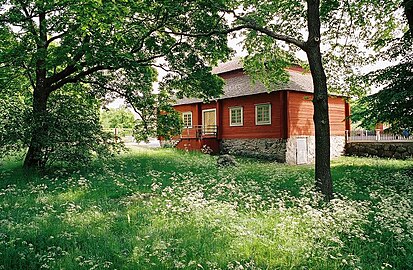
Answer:
[[[313,136],[313,94],[288,91],[288,136]],[[331,136],[344,136],[346,102],[341,97],[328,98]]]

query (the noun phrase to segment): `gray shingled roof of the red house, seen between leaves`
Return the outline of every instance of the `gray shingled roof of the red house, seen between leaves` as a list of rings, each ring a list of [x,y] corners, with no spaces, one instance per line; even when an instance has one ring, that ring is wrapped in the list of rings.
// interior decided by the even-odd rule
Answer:
[[[242,64],[239,59],[224,63],[212,69],[215,74],[222,74],[232,70],[241,69]],[[278,85],[274,90],[292,90],[313,93],[313,81],[310,74],[303,74],[300,71],[287,70],[290,80],[285,84]],[[224,94],[219,99],[250,96],[267,93],[267,89],[260,82],[253,83],[248,75],[237,76],[225,80]],[[191,104],[202,102],[202,99],[183,98],[176,101],[175,105]]]

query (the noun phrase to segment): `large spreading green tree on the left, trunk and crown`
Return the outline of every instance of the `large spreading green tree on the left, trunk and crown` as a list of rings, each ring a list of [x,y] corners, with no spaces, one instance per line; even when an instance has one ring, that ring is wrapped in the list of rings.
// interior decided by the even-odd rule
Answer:
[[[12,66],[32,88],[33,126],[25,167],[43,164],[49,123],[48,100],[67,84],[101,84],[125,74],[152,87],[154,67],[174,71],[168,77],[178,93],[211,97],[222,81],[207,64],[228,57],[226,36],[182,38],[172,31],[220,29],[221,14],[208,1],[19,1],[1,0],[0,29],[7,32],[2,67]],[[2,34],[3,36],[3,34]],[[123,76],[123,77],[122,77]],[[180,85],[190,82],[191,86]],[[202,90],[203,81],[210,88]],[[137,81],[135,81],[136,83]],[[110,87],[101,91],[110,91]],[[129,95],[128,90],[122,95]],[[138,98],[138,97],[136,97]]]

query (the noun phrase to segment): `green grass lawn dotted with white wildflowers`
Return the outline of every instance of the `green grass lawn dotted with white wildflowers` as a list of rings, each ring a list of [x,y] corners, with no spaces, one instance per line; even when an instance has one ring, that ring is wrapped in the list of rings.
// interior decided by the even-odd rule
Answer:
[[[133,150],[79,170],[0,167],[0,269],[413,269],[413,161],[313,167]]]

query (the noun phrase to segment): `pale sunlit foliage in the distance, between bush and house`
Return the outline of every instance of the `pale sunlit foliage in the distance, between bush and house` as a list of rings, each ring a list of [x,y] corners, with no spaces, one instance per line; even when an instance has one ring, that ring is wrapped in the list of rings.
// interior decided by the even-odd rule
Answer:
[[[103,128],[133,128],[135,117],[126,107],[104,110],[100,114]]]

